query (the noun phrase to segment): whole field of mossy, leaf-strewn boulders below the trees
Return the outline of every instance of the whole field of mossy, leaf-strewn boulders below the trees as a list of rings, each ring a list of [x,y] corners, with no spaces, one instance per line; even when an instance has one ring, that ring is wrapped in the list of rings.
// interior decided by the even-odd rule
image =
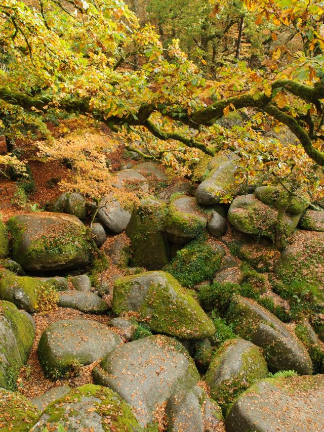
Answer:
[[[130,164],[134,202],[64,193],[0,221],[0,430],[324,430],[324,210],[246,194],[235,160],[189,186]]]

